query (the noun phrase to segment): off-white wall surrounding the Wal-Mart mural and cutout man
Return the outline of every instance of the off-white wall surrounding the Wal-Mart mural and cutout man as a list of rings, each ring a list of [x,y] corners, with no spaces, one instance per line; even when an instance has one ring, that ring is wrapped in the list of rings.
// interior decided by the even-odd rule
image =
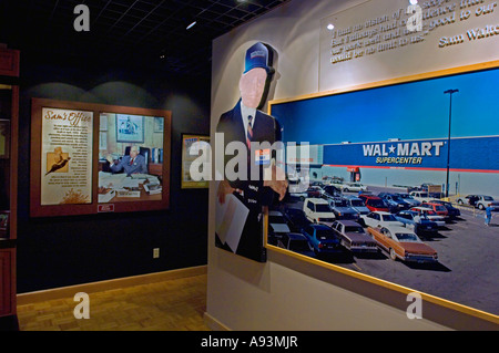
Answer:
[[[395,0],[394,0],[395,1]],[[397,9],[407,1],[397,1]],[[347,10],[358,3],[355,11]],[[386,79],[429,72],[498,59],[497,50],[468,49],[457,55],[438,49],[434,41],[420,43],[420,60],[407,68],[384,65],[387,55],[353,60],[347,65],[336,64],[327,74],[338,73],[342,80],[320,80],[319,38],[320,20],[345,11],[356,23],[373,14],[373,3],[385,1],[294,0],[214,41],[212,74],[212,136],[220,115],[231,110],[238,100],[238,80],[244,68],[244,55],[254,42],[272,45],[278,53],[277,73],[271,90],[271,100],[313,94]],[[458,4],[459,6],[459,4]],[[493,19],[497,23],[497,10]],[[358,17],[358,18],[357,18]],[[492,18],[490,18],[492,19]],[[348,19],[342,18],[342,23]],[[456,23],[462,25],[462,23]],[[455,31],[461,30],[455,27]],[[324,35],[324,34],[323,34]],[[499,44],[499,35],[487,39],[489,45]],[[485,40],[483,40],[485,41]],[[425,44],[425,46],[422,46]],[[415,44],[419,45],[419,44]],[[493,45],[492,45],[493,46]],[[499,48],[499,45],[496,45]],[[449,48],[455,50],[454,48]],[[390,62],[404,60],[404,49],[393,51]],[[431,58],[431,60],[429,60]],[[347,68],[347,69],[345,69]],[[373,70],[369,70],[371,68]],[[380,70],[383,68],[383,70]],[[323,68],[323,74],[324,74]],[[361,72],[361,75],[358,73]],[[320,89],[319,89],[320,85]],[[422,320],[407,319],[406,294],[344,276],[316,264],[305,263],[269,251],[266,263],[241,258],[215,247],[215,189],[210,190],[208,225],[208,288],[206,313],[232,330],[445,330],[458,328],[454,313],[439,307],[426,312]],[[438,314],[436,314],[438,313]],[[441,316],[449,316],[448,320]],[[458,314],[459,316],[459,314]],[[451,318],[451,319],[450,319]],[[440,320],[442,319],[442,320]],[[466,328],[466,324],[465,324]]]

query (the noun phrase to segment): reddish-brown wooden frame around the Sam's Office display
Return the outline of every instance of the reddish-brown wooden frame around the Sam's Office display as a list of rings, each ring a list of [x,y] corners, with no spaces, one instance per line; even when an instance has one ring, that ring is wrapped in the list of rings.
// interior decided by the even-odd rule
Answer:
[[[43,131],[42,131],[42,113],[52,110],[59,112],[63,117],[70,112],[86,112],[88,116],[92,116],[91,122],[91,160],[88,168],[91,169],[90,197],[88,203],[75,203],[61,205],[42,203],[42,166],[41,152],[43,152]],[[60,110],[60,111],[57,111]],[[68,111],[68,112],[67,112]],[[70,215],[92,215],[98,212],[126,212],[126,211],[147,211],[167,209],[170,207],[170,154],[171,154],[171,112],[162,110],[149,110],[128,106],[115,106],[105,104],[93,104],[82,102],[64,102],[54,100],[32,98],[31,106],[31,190],[30,190],[30,216],[31,217],[50,217],[50,216],[70,216]],[[101,128],[101,114],[125,114],[142,116],[142,118],[163,117],[163,163],[160,165],[162,189],[160,195],[147,197],[149,195],[141,188],[141,197],[135,199],[120,199],[119,201],[99,203],[99,172],[104,160],[100,160],[100,133],[105,132]],[[54,120],[54,118],[53,118]],[[57,121],[57,120],[55,120]],[[109,121],[109,118],[108,118]],[[152,127],[152,125],[151,125]],[[90,128],[90,127],[89,127]],[[145,125],[144,125],[145,128]],[[108,128],[108,133],[115,133],[114,128]],[[68,135],[63,135],[68,136]],[[61,137],[62,138],[62,137]],[[88,137],[90,138],[90,137]],[[47,139],[47,138],[45,138]],[[63,139],[62,139],[63,141]],[[118,138],[116,138],[118,143]],[[47,144],[47,142],[45,142]],[[123,147],[124,149],[124,147]],[[124,150],[119,150],[124,155]],[[102,156],[101,156],[102,157]],[[105,156],[104,156],[105,157]],[[102,158],[101,158],[102,159]],[[71,163],[71,162],[70,162]],[[62,177],[60,177],[62,178]],[[47,183],[47,181],[45,181]],[[116,199],[118,200],[118,199]]]

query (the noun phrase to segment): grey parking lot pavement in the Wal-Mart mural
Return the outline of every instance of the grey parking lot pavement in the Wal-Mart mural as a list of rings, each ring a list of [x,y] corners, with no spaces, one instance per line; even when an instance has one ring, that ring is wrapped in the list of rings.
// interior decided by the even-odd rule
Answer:
[[[375,195],[396,191],[383,187],[369,187],[369,190]],[[285,206],[303,208],[303,203],[293,201]],[[499,212],[493,212],[491,225],[486,226],[483,211],[469,207],[459,208],[460,217],[440,227],[437,233],[420,237],[438,251],[437,263],[393,261],[385,252],[352,256],[348,251],[345,256],[322,260],[499,314]]]

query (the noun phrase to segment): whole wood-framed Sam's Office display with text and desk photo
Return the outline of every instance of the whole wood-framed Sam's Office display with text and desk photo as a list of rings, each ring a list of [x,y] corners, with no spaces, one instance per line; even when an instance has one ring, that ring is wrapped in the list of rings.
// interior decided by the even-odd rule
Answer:
[[[169,111],[33,98],[30,215],[167,209],[170,138]]]

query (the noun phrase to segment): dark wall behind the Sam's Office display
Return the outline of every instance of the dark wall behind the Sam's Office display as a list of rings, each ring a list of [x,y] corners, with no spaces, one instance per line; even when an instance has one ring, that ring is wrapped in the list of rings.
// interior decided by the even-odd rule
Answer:
[[[21,54],[21,68],[18,292],[205,264],[207,190],[181,189],[181,134],[208,133],[210,77],[167,73],[150,62],[34,52]],[[31,218],[33,97],[171,111],[170,209]],[[160,248],[159,259],[153,248]]]

